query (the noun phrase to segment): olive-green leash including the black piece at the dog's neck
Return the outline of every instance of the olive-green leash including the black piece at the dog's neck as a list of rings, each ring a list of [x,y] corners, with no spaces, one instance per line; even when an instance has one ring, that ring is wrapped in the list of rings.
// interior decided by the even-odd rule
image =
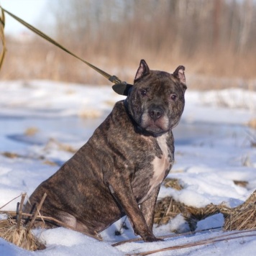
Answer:
[[[51,37],[47,36],[45,33],[41,32],[39,29],[33,27],[31,24],[25,22],[23,19],[20,19],[19,17],[12,14],[11,12],[8,12],[3,7],[0,6],[0,8],[1,8],[1,13],[2,13],[1,17],[0,17],[0,35],[1,35],[1,41],[3,43],[3,51],[1,52],[1,55],[0,55],[0,68],[1,68],[1,65],[4,61],[4,56],[5,56],[5,52],[6,52],[5,40],[4,40],[4,24],[5,24],[4,12],[6,12],[6,14],[9,14],[11,17],[16,19],[18,22],[23,24],[25,27],[32,30],[32,32],[35,32],[35,34],[44,38],[48,42],[51,42],[52,45],[55,45],[55,46],[59,47],[63,51],[68,52],[68,54],[72,55],[73,57],[77,58],[78,60],[81,60],[83,63],[86,63],[86,65],[88,65],[90,68],[93,68],[94,70],[96,70],[102,76],[104,76],[109,81],[111,81],[111,83],[115,83],[114,86],[112,86],[112,88],[116,93],[124,95],[124,96],[128,95],[129,88],[131,88],[132,85],[129,85],[129,84],[127,84],[127,82],[121,81],[117,76],[111,76],[111,75],[109,75],[109,73],[106,73],[104,70],[101,70],[100,68],[97,68],[95,65],[92,65],[91,63],[88,63],[88,61],[83,60],[82,58],[78,57],[78,55],[74,54],[73,52],[71,52],[70,50],[65,48],[63,45],[60,45],[60,43],[53,40]]]

